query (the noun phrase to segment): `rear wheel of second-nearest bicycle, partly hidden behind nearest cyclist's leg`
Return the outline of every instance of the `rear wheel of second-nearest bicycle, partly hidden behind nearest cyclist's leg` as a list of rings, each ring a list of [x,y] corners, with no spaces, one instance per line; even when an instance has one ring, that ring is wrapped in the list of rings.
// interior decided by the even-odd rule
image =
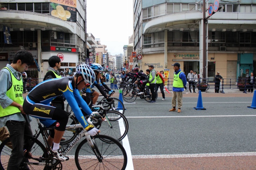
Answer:
[[[75,124],[79,124],[79,122],[75,118],[75,116],[72,115],[72,116],[70,116],[68,118],[67,125],[75,125]],[[46,137],[48,137],[49,136],[48,130],[44,130],[44,132],[45,132]],[[65,138],[65,140],[64,141],[60,141],[60,144],[68,144],[68,143],[72,142],[75,139],[75,137],[76,137],[76,133],[77,133],[76,128],[74,128],[74,129],[66,129],[64,134],[63,134],[63,136],[62,136],[63,138]]]

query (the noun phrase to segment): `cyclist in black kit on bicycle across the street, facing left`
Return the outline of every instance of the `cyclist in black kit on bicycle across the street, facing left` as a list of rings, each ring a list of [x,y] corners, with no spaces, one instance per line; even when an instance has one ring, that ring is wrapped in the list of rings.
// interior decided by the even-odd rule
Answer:
[[[139,68],[134,68],[134,73],[130,73],[130,74],[134,75],[134,78],[131,81],[131,83],[138,85],[138,88],[141,91],[138,94],[143,94],[143,88],[146,86],[146,84],[149,81],[148,76],[145,73],[139,71]]]

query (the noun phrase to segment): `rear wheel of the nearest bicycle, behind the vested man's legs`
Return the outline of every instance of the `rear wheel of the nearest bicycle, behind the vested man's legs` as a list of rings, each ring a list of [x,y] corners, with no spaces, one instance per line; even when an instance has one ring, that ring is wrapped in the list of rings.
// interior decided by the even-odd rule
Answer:
[[[45,158],[48,158],[48,152],[45,148],[45,146],[37,139],[34,139],[32,136],[28,136],[25,135],[25,137],[31,141],[34,141],[33,146],[31,147],[31,150],[29,150],[29,152],[27,152],[27,154],[24,155],[24,159],[22,160],[21,164],[20,164],[20,169],[25,169],[25,166],[28,166],[28,168],[30,169],[48,169],[50,167],[42,167],[42,166],[38,166],[38,165],[33,165],[33,164],[24,164],[23,162],[34,162],[34,163],[38,163],[38,160],[35,159],[39,159],[39,157],[41,157],[42,155],[45,155]],[[5,170],[7,169],[7,165],[8,165],[8,161],[11,155],[11,151],[12,149],[6,146],[6,143],[10,142],[10,139],[7,138],[5,141],[3,141],[0,144],[0,169]],[[32,157],[27,157],[28,153],[32,154]]]

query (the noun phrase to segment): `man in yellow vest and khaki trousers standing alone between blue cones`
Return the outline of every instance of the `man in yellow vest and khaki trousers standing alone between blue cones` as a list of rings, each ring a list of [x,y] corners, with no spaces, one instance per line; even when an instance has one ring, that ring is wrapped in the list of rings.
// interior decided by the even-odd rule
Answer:
[[[176,98],[178,100],[178,113],[181,112],[182,107],[182,92],[186,89],[187,79],[186,75],[180,69],[180,63],[172,64],[174,70],[173,76],[173,97],[171,99],[171,105],[173,106],[169,112],[176,111]]]

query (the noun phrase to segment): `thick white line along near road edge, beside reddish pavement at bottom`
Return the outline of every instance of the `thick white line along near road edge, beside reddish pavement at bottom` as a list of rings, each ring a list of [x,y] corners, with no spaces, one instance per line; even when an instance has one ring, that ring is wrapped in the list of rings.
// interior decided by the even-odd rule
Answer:
[[[191,158],[218,156],[256,156],[256,152],[210,153],[210,154],[174,154],[174,155],[133,155],[133,159],[145,158]]]

